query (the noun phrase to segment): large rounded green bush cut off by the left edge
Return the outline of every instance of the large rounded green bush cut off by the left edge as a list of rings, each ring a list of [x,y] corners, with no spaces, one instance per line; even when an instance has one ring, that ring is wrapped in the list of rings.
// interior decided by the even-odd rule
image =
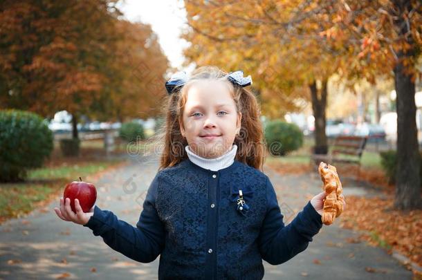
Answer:
[[[53,133],[35,113],[0,111],[0,181],[23,180],[53,151]]]

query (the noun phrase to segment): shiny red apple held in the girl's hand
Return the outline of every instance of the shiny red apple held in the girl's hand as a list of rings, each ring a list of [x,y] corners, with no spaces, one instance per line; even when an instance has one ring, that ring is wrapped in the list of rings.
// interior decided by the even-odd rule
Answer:
[[[80,181],[73,181],[66,185],[63,197],[65,202],[66,198],[71,199],[71,208],[75,213],[75,198],[77,198],[82,210],[86,213],[89,212],[95,204],[95,200],[97,200],[97,189],[95,189],[93,184],[82,182],[82,179],[79,179]]]

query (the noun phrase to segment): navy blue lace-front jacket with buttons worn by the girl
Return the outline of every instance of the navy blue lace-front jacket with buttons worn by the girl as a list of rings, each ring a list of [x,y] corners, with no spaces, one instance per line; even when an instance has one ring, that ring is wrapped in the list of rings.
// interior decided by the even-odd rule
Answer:
[[[237,209],[239,189],[248,211]],[[136,227],[98,206],[84,227],[135,261],[160,255],[158,279],[262,279],[262,259],[277,265],[293,258],[322,221],[308,202],[285,226],[264,173],[237,160],[211,171],[187,158],[158,171]]]

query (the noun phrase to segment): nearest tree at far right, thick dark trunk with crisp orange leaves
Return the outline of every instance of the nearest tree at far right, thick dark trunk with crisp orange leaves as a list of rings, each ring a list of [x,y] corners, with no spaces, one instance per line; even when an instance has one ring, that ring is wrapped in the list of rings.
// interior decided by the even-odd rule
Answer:
[[[368,66],[394,77],[397,110],[396,200],[398,209],[421,205],[420,156],[416,128],[415,81],[422,47],[422,3],[418,0],[344,1],[340,21],[346,42],[358,51],[356,71]],[[355,51],[355,52],[356,52]],[[356,60],[355,60],[356,61]]]

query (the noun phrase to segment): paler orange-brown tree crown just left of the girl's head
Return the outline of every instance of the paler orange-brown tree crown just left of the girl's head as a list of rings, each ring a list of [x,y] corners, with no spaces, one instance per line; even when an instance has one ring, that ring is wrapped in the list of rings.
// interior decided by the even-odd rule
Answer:
[[[95,102],[98,120],[147,118],[160,113],[160,95],[168,60],[151,26],[120,20],[116,48],[107,67],[107,83]]]

